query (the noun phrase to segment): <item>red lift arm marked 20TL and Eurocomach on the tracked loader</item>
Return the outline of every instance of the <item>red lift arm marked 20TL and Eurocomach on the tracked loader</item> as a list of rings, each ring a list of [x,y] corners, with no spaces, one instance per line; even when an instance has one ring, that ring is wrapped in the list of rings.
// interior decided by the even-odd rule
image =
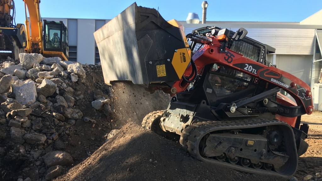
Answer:
[[[192,57],[198,73],[201,73],[203,70],[202,68],[207,64],[217,63],[219,65],[228,65],[231,69],[241,71],[255,78],[275,84],[276,87],[283,88],[296,100],[297,105],[303,105],[305,107],[307,114],[313,112],[312,95],[306,95],[306,92],[310,91],[308,84],[288,72],[279,70],[273,66],[269,67],[259,62],[255,62],[244,57],[242,54],[227,48],[227,52],[220,53],[220,42],[214,39],[212,43],[213,45],[211,46],[205,45],[204,48],[195,52]],[[249,71],[245,68],[241,68],[241,65],[245,64],[251,64],[253,67],[256,67],[256,70]],[[191,72],[192,66],[190,64],[184,75],[189,76]],[[188,85],[189,83],[185,83],[185,81],[181,79],[180,81],[175,82],[173,87],[176,88],[176,93],[178,93],[185,91]]]

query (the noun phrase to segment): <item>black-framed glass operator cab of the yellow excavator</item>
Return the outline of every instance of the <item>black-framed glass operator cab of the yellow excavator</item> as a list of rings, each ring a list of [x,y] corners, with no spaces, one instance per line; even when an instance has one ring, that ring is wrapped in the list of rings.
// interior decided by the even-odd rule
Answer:
[[[68,31],[62,21],[44,20],[43,46],[45,56],[59,56],[62,60],[68,60]]]

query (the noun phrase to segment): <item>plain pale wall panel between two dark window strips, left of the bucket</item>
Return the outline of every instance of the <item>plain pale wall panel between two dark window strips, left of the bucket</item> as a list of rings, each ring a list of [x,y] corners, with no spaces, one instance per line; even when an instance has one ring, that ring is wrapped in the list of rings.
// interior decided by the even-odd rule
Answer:
[[[95,32],[94,19],[77,20],[77,62],[94,64],[95,57]]]

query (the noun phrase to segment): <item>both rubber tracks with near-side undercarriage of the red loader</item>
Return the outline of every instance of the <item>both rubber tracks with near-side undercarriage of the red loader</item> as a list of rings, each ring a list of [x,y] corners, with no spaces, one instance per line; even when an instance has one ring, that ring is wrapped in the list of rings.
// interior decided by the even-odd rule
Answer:
[[[173,138],[173,133],[160,130],[162,112],[148,114],[142,126]],[[180,135],[180,144],[192,157],[254,174],[288,178],[296,172],[294,133],[285,122],[256,118],[198,121],[186,126]]]

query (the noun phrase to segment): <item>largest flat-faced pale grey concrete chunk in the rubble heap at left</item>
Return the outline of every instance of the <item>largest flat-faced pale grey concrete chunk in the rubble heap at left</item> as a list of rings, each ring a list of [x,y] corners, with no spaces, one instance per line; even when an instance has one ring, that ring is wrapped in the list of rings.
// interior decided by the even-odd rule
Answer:
[[[16,100],[22,105],[31,105],[36,101],[37,92],[33,81],[26,81],[21,86],[12,84],[12,90]]]

